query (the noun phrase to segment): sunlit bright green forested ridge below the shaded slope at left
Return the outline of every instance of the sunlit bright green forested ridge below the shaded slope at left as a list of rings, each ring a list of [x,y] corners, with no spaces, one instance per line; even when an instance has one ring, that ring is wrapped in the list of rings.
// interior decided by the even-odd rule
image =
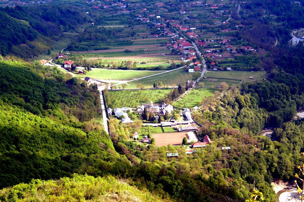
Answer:
[[[92,173],[97,164],[110,166],[120,158],[104,130],[83,132],[1,100],[0,138],[0,187],[32,178]],[[100,169],[94,174],[108,172]]]

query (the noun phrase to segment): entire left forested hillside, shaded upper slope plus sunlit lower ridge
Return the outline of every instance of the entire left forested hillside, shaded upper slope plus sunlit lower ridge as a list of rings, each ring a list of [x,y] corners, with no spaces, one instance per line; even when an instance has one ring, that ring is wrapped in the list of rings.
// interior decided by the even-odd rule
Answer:
[[[0,187],[123,161],[94,119],[99,91],[56,68],[0,61],[0,72]]]

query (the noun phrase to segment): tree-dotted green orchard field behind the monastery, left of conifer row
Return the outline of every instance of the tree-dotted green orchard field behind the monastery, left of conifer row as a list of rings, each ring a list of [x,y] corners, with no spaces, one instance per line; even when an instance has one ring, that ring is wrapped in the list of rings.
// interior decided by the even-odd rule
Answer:
[[[109,91],[113,108],[130,107],[136,108],[138,105],[149,103],[161,103],[171,89],[163,90],[125,90]]]

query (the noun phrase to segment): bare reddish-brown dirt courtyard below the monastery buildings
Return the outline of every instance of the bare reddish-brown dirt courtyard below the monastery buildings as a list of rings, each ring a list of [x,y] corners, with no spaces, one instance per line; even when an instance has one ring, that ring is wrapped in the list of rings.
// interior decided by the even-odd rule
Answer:
[[[173,146],[181,145],[183,138],[186,137],[187,132],[181,133],[157,133],[152,134],[152,137],[155,139],[156,146],[167,146],[171,144]]]

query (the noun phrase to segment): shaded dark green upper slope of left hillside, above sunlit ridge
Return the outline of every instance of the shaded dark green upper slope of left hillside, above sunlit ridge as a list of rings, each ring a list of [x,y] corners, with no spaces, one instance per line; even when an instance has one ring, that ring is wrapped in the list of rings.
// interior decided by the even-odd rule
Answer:
[[[0,61],[0,97],[33,114],[88,121],[101,113],[99,91],[56,67]],[[75,83],[71,82],[75,81]]]

